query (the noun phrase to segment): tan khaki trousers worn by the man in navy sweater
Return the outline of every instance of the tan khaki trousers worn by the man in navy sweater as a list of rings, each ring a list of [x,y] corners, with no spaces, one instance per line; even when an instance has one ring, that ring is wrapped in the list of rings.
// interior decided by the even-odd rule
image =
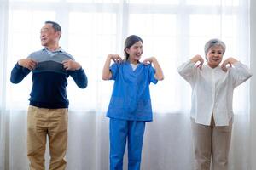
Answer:
[[[49,170],[64,170],[67,150],[67,108],[44,109],[30,105],[27,112],[27,156],[30,170],[44,170],[49,137]]]

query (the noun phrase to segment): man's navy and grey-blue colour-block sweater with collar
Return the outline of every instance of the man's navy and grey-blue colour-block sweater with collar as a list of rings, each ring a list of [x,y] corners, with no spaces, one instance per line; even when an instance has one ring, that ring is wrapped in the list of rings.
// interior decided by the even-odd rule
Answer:
[[[40,108],[67,108],[67,77],[73,77],[79,88],[87,87],[87,77],[84,70],[66,71],[62,61],[73,59],[70,54],[63,50],[49,52],[46,48],[34,52],[28,56],[38,62],[32,71],[32,91],[30,94],[30,105]],[[11,72],[10,80],[19,83],[30,73],[27,68],[15,65]]]

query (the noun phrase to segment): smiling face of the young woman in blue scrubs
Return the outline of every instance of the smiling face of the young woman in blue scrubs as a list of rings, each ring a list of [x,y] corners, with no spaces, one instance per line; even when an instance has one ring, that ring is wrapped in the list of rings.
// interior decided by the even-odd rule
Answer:
[[[131,48],[126,48],[125,52],[129,54],[129,61],[132,64],[137,64],[143,54],[143,42],[134,43]]]

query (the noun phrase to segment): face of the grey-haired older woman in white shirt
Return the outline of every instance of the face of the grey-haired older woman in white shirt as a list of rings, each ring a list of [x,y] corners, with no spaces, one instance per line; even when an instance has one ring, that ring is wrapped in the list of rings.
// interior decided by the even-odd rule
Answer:
[[[207,64],[211,68],[217,67],[223,58],[224,48],[220,45],[212,46],[207,52]]]

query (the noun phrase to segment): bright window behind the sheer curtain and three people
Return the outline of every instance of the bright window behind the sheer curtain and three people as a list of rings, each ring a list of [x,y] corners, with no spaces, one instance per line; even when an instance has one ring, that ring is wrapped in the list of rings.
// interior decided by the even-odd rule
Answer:
[[[212,37],[226,43],[224,57],[237,56],[249,64],[247,48],[238,48],[247,39],[241,36],[246,34],[242,25],[247,13],[240,13],[247,7],[239,0],[12,0],[9,7],[9,71],[18,59],[42,48],[39,31],[45,20],[61,24],[61,47],[83,65],[89,78],[85,90],[69,78],[71,110],[107,110],[113,82],[102,81],[102,66],[108,54],[123,54],[125,37],[131,34],[143,38],[143,59],[157,57],[165,73],[163,82],[151,86],[154,111],[189,111],[189,84],[179,77],[177,66],[195,54],[204,55],[204,44]],[[10,87],[9,105],[26,108],[31,77],[19,88]],[[235,94],[235,104],[242,104],[235,105],[238,112],[248,108],[240,101],[247,94],[246,86]]]

